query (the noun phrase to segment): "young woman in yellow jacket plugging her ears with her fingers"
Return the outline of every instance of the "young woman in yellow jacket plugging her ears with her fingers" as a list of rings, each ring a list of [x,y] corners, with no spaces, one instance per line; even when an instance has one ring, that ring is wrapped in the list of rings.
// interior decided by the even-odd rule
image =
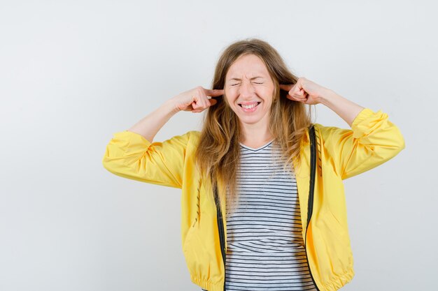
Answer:
[[[404,149],[388,115],[295,77],[268,43],[229,45],[213,89],[165,101],[106,147],[121,177],[182,189],[181,236],[202,290],[337,290],[354,275],[342,180]],[[351,129],[311,124],[322,103]],[[153,142],[177,112],[202,131]],[[222,215],[223,214],[223,215]]]

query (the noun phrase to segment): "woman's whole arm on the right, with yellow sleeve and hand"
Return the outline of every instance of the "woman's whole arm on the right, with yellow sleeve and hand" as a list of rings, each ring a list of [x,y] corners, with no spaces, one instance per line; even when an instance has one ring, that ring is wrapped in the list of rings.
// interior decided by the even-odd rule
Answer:
[[[399,128],[381,110],[364,108],[302,77],[296,84],[281,85],[281,89],[289,91],[287,98],[291,100],[326,105],[351,126],[342,129],[318,125],[320,144],[330,154],[342,179],[385,163],[405,147]]]

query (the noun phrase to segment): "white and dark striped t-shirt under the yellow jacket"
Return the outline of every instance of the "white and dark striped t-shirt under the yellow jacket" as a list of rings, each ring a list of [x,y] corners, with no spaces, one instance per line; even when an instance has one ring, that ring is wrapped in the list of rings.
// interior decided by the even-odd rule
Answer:
[[[293,169],[283,170],[274,140],[258,149],[240,146],[239,207],[227,218],[225,290],[316,290]]]

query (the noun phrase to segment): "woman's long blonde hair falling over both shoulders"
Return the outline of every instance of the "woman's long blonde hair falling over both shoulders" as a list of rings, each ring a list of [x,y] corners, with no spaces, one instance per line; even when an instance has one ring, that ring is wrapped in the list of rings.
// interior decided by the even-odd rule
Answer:
[[[288,92],[280,90],[279,84],[295,84],[298,78],[290,73],[274,47],[257,38],[232,43],[225,48],[218,60],[211,88],[225,87],[225,76],[229,67],[244,54],[255,54],[267,66],[274,82],[269,130],[285,156],[284,167],[292,168],[292,161],[299,165],[301,162],[299,152],[303,137],[311,124],[311,112],[306,110],[304,103],[286,98]],[[228,216],[239,204],[236,174],[240,159],[241,128],[237,115],[225,98],[225,96],[215,98],[218,103],[210,106],[204,115],[196,151],[196,163],[204,179],[211,179],[213,187],[221,181],[222,185],[228,188],[228,191],[225,188],[218,189],[221,200],[226,199],[227,206],[230,206],[227,207]]]

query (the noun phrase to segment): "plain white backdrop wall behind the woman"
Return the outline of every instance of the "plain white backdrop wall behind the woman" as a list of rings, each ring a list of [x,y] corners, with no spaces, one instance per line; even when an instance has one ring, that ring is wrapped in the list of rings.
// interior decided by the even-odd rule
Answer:
[[[342,290],[438,290],[436,12],[435,1],[0,1],[0,290],[200,290],[181,191],[101,159],[113,133],[209,88],[243,38],[404,135],[398,156],[344,182],[355,277]],[[324,105],[315,113],[348,128]],[[202,114],[176,114],[154,140],[199,130]]]

